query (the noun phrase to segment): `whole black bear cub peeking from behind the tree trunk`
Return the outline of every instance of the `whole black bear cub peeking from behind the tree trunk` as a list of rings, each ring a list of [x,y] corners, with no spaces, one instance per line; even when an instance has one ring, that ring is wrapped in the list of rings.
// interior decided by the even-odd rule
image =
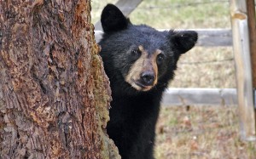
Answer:
[[[132,25],[113,4],[102,11],[101,56],[113,101],[107,132],[123,159],[154,158],[160,100],[181,54],[195,46],[195,31],[157,31]]]

